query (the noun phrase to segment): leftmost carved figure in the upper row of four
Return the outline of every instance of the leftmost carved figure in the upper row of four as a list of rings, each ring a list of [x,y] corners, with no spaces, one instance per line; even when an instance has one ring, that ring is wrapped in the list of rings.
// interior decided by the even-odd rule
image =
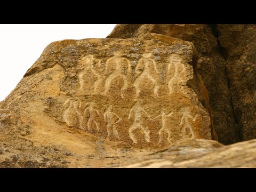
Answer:
[[[78,78],[79,78],[79,90],[84,90],[84,78],[88,78],[88,74],[92,73],[95,75],[97,80],[94,82],[94,91],[98,90],[99,85],[102,83],[103,79],[101,76],[100,63],[99,59],[95,59],[93,55],[89,54],[82,58],[80,61],[83,65],[78,69]]]

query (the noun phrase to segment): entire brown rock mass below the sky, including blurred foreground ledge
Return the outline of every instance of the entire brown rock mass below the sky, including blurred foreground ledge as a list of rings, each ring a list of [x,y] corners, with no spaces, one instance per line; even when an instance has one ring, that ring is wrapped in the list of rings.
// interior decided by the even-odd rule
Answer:
[[[255,36],[117,25],[51,43],[0,103],[0,167],[255,167]]]

